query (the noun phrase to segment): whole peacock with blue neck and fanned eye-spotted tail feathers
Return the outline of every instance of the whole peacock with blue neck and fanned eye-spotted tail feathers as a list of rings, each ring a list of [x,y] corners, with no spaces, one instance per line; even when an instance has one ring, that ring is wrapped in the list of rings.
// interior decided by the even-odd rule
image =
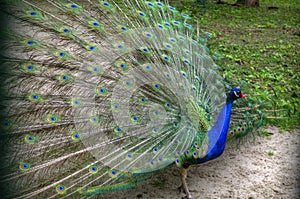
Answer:
[[[1,15],[1,197],[98,198],[177,165],[191,199],[189,166],[263,124],[166,1],[7,0]]]

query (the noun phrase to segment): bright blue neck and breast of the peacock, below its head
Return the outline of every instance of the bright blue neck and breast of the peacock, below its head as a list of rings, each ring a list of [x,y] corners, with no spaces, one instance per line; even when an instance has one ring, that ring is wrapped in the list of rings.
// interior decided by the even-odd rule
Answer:
[[[219,114],[215,126],[208,132],[209,144],[207,155],[203,158],[193,159],[189,161],[190,165],[200,164],[209,160],[213,160],[223,153],[226,146],[226,137],[230,122],[231,108],[232,100],[227,99],[226,106],[222,109],[221,113]]]

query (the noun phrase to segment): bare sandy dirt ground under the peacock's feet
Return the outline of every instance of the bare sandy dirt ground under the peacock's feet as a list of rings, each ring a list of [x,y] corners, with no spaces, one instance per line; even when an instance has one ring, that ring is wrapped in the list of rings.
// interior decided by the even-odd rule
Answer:
[[[191,167],[187,182],[195,199],[300,198],[300,131],[268,131],[273,135],[239,149],[227,148],[218,159]],[[180,184],[178,168],[171,166],[110,197],[181,199],[185,195],[177,189]]]

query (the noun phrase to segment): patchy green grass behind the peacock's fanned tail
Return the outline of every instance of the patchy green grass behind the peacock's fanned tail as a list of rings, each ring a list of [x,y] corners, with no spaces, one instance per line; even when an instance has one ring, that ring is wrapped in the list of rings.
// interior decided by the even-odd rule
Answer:
[[[260,7],[215,4],[205,7],[181,1],[179,10],[202,24],[213,38],[208,47],[223,57],[223,76],[245,81],[267,105],[268,123],[293,129],[300,118],[300,4],[298,0],[265,0]],[[235,1],[227,1],[234,3]],[[171,2],[172,4],[172,2]],[[278,9],[268,9],[273,6]],[[195,21],[194,21],[195,22]],[[237,85],[232,85],[237,86]]]

